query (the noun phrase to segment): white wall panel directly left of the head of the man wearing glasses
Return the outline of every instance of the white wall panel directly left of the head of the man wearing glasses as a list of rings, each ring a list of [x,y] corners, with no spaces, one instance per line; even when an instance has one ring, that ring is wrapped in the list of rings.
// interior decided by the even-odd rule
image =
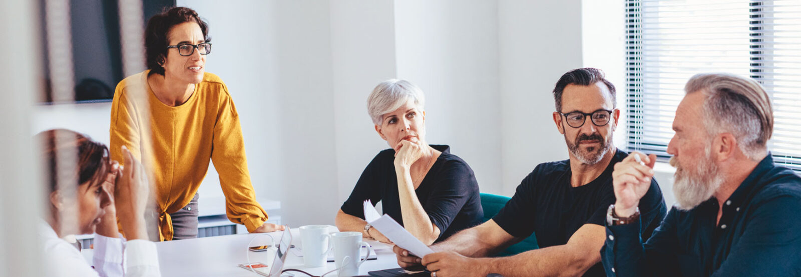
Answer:
[[[581,2],[498,2],[503,194],[538,163],[567,159],[553,123],[553,85],[582,66]]]

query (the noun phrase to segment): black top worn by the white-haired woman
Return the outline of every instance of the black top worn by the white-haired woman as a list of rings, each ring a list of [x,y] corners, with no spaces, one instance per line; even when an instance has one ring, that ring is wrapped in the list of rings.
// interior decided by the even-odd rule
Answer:
[[[440,237],[437,239],[439,242],[457,231],[480,224],[484,211],[481,209],[478,183],[473,170],[464,160],[451,155],[447,145],[431,147],[442,154],[425,175],[415,194],[431,222],[440,228]],[[367,168],[364,168],[350,197],[342,204],[342,211],[364,219],[364,200],[370,199],[373,205],[382,201],[384,214],[403,225],[394,161],[394,150],[380,151]]]

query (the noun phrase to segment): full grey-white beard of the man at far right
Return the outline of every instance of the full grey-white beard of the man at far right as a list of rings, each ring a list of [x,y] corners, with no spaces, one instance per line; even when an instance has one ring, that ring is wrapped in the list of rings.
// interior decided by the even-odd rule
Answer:
[[[718,165],[712,160],[710,148],[710,145],[705,147],[706,159],[699,161],[697,171],[682,167],[675,157],[670,157],[670,165],[676,167],[673,194],[679,210],[690,211],[698,207],[712,198],[714,192],[723,184],[723,177],[718,175]]]

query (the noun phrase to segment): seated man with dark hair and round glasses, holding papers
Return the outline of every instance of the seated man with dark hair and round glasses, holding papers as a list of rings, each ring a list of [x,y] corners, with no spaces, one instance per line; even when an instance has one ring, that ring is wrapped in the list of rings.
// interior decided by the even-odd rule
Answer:
[[[398,264],[433,277],[585,275],[603,276],[601,255],[606,208],[614,203],[612,171],[626,152],[612,143],[620,110],[601,70],[580,68],[562,75],[553,89],[553,122],[565,137],[570,159],[541,163],[523,179],[509,203],[477,227],[466,229],[418,258],[394,247]],[[662,191],[648,178],[639,207],[649,237],[666,214]],[[539,249],[509,257],[491,256],[536,235]]]

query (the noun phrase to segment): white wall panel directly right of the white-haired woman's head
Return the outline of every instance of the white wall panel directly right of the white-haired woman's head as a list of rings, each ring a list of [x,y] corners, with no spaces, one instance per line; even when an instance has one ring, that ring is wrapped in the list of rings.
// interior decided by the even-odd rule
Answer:
[[[427,140],[448,144],[481,191],[501,185],[498,14],[490,1],[396,1],[398,78],[425,91]]]

